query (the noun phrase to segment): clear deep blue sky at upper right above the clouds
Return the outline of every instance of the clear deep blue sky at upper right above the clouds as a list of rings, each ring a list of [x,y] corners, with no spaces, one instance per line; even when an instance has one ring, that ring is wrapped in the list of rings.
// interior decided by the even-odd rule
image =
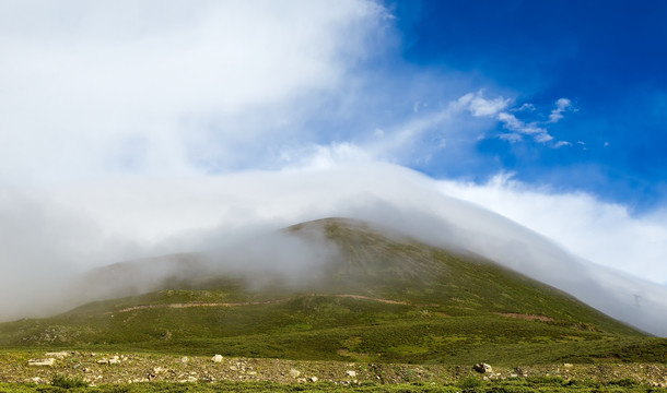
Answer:
[[[585,190],[642,212],[667,196],[667,3],[664,1],[399,1],[402,59],[473,74],[535,106],[545,120],[560,97],[573,109],[550,127],[572,145],[485,139],[483,168],[420,168]],[[582,143],[580,143],[582,142]]]

